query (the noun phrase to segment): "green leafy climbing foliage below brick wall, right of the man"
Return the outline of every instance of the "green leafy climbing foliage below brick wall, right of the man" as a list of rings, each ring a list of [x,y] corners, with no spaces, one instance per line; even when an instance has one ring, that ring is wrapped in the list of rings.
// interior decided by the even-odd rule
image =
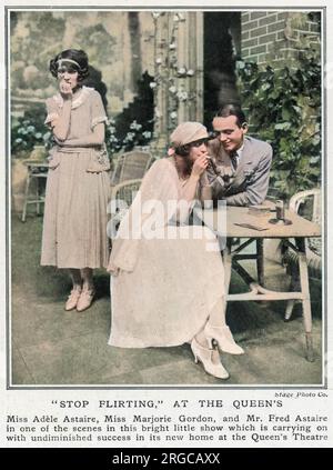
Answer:
[[[274,150],[271,184],[279,197],[317,187],[321,180],[321,66],[305,49],[282,68],[239,62],[252,133]]]

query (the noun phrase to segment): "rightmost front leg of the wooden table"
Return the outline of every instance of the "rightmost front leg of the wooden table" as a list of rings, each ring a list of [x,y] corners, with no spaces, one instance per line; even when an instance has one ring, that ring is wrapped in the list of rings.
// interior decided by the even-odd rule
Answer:
[[[304,238],[295,239],[296,247],[299,249],[299,267],[300,267],[300,282],[301,292],[304,296],[302,300],[303,307],[303,323],[305,330],[305,344],[306,344],[306,359],[313,362],[313,343],[312,343],[312,316],[311,316],[311,301],[310,301],[310,289],[309,289],[309,274],[306,266],[305,254],[305,240]]]

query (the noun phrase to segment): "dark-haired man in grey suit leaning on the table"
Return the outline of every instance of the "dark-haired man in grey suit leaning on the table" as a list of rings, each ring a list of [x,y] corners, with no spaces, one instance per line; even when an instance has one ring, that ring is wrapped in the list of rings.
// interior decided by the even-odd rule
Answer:
[[[219,111],[213,129],[206,171],[213,199],[224,199],[229,206],[261,204],[269,189],[272,147],[246,136],[245,116],[234,104]]]

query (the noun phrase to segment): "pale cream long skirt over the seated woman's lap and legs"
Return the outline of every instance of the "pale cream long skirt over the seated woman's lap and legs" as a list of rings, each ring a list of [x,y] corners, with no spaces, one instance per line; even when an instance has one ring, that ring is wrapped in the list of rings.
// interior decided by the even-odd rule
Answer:
[[[182,344],[204,327],[218,302],[223,304],[224,269],[215,236],[205,227],[176,231],[175,240],[141,240],[134,270],[111,276],[109,344]]]

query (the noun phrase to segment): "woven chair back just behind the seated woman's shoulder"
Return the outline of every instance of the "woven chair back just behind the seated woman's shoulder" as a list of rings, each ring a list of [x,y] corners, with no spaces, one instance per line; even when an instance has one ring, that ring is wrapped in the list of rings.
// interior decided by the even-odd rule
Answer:
[[[134,149],[130,152],[121,153],[115,161],[111,186],[123,181],[142,179],[153,161],[154,158],[147,150]]]

